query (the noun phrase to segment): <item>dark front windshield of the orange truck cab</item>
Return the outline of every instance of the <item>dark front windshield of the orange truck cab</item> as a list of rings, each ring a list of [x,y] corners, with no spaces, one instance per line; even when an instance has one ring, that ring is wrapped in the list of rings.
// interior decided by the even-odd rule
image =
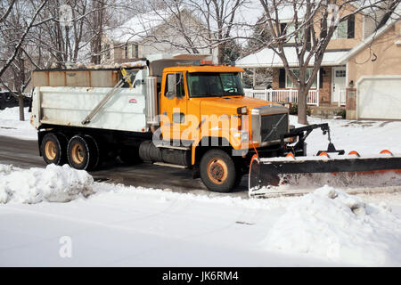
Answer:
[[[191,97],[243,95],[239,72],[195,72],[188,74]]]

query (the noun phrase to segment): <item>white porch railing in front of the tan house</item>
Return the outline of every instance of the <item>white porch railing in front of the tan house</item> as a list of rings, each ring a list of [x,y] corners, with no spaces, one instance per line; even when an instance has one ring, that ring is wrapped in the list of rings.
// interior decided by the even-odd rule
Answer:
[[[286,89],[286,90],[254,90],[254,89],[244,89],[245,96],[251,98],[258,98],[270,102],[280,102],[280,103],[291,103],[298,102],[298,90],[296,89]],[[319,106],[319,91],[309,90],[307,94],[307,104]]]

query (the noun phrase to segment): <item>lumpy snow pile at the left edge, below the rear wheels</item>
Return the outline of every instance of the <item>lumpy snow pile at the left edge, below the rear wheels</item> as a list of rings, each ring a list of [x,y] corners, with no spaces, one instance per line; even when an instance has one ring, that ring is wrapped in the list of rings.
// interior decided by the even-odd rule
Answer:
[[[84,170],[53,164],[43,168],[19,169],[0,165],[0,203],[68,202],[94,193],[94,179]]]

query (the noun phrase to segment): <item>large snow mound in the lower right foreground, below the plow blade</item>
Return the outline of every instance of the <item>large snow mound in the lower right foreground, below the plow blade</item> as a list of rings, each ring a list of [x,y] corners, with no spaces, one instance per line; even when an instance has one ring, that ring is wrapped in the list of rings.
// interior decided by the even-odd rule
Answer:
[[[366,204],[325,185],[293,201],[262,242],[351,265],[401,265],[401,220],[385,203]]]

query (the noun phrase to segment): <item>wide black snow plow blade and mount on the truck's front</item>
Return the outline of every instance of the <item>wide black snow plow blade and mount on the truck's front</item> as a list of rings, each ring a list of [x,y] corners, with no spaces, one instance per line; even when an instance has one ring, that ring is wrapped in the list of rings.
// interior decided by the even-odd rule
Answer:
[[[328,134],[329,146],[327,151],[318,151],[316,156],[307,157],[305,139],[312,130],[321,128],[323,134]],[[383,173],[391,173],[388,180],[396,181],[401,186],[401,157],[394,156],[390,151],[381,151],[379,156],[364,157],[356,151],[344,155],[343,150],[336,150],[331,143],[330,128],[327,124],[304,126],[292,129],[283,137],[298,136],[299,141],[294,146],[287,146],[286,157],[259,158],[258,155],[250,161],[249,194],[250,197],[264,197],[267,194],[280,193],[273,186],[282,184],[317,183],[319,186],[336,183],[340,180],[342,185],[349,186],[357,183],[363,185],[364,178],[369,176],[370,182]],[[300,155],[299,155],[300,154]],[[297,156],[299,155],[299,156]],[[393,177],[397,173],[398,177]],[[384,175],[383,175],[384,176]],[[362,178],[361,178],[362,177]],[[304,179],[306,178],[306,179]],[[384,179],[386,180],[386,179]],[[337,181],[337,183],[338,183]],[[384,181],[384,183],[388,183]],[[369,184],[369,183],[367,183]],[[356,185],[359,186],[359,185]]]

